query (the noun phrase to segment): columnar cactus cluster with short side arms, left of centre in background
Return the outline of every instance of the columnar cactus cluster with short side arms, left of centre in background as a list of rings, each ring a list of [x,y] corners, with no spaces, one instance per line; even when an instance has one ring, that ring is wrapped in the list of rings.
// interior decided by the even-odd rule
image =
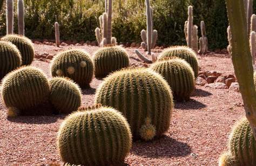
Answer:
[[[105,1],[105,13],[99,17],[100,28],[95,29],[96,39],[100,47],[104,47],[106,44],[115,45],[117,42],[117,39],[112,37],[112,0],[107,1]]]

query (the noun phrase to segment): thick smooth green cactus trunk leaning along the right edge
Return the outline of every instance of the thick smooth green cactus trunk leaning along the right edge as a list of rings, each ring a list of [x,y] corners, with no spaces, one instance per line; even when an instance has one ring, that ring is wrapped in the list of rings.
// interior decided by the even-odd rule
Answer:
[[[246,117],[250,122],[254,138],[256,138],[256,91],[244,1],[226,0],[226,5],[232,34],[231,54],[234,71],[244,101]]]

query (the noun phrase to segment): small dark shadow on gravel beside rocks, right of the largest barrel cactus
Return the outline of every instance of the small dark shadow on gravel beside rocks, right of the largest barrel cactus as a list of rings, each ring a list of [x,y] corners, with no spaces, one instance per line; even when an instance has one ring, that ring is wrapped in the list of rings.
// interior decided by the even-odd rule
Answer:
[[[204,103],[201,103],[197,100],[190,99],[186,102],[175,102],[174,108],[176,109],[201,109],[206,108],[207,106]]]

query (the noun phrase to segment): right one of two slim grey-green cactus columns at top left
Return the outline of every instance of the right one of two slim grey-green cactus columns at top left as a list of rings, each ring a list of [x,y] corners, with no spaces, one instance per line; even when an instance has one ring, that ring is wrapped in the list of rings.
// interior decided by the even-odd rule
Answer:
[[[25,29],[24,29],[24,2],[23,2],[23,0],[18,0],[17,8],[18,8],[18,32],[20,35],[24,36]]]

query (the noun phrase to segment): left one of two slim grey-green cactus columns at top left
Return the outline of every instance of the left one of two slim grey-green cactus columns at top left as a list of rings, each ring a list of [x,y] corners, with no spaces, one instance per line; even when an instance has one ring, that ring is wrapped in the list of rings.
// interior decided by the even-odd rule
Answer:
[[[14,33],[14,2],[6,0],[6,34]]]

